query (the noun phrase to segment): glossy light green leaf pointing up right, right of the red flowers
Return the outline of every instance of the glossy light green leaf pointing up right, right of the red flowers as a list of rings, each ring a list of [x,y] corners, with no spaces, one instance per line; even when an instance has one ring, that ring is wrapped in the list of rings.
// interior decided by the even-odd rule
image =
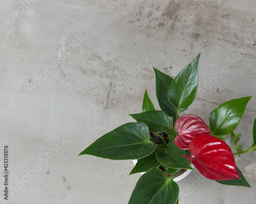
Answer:
[[[229,126],[232,131],[238,126],[246,105],[252,96],[232,99],[221,104],[210,113],[210,130],[213,135],[227,135]]]

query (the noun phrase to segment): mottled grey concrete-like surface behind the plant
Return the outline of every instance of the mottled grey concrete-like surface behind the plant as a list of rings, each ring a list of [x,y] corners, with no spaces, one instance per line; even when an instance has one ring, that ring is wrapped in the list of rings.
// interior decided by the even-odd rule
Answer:
[[[140,177],[128,176],[131,163],[77,155],[133,121],[146,88],[159,108],[152,66],[175,77],[200,52],[199,93],[184,113],[207,122],[224,101],[254,95],[236,131],[250,146],[255,1],[21,2],[0,7],[0,149],[2,161],[9,145],[12,187],[5,203],[127,203]],[[195,171],[179,182],[179,203],[254,204],[255,154],[237,158],[251,189]]]

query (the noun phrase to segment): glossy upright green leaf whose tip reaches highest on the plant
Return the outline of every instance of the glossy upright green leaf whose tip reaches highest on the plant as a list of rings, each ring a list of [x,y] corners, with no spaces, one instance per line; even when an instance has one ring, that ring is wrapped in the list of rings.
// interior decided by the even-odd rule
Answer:
[[[190,106],[197,95],[199,58],[200,54],[181,70],[168,90],[168,99],[179,112]]]

